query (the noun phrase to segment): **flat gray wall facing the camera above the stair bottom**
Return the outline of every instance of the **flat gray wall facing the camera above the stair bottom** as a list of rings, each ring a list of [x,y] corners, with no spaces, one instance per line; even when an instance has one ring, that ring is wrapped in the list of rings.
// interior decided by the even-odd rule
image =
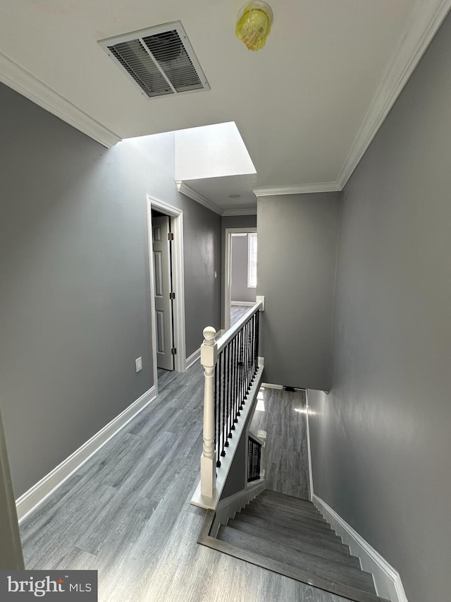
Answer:
[[[261,197],[257,208],[264,380],[328,390],[340,195]]]

